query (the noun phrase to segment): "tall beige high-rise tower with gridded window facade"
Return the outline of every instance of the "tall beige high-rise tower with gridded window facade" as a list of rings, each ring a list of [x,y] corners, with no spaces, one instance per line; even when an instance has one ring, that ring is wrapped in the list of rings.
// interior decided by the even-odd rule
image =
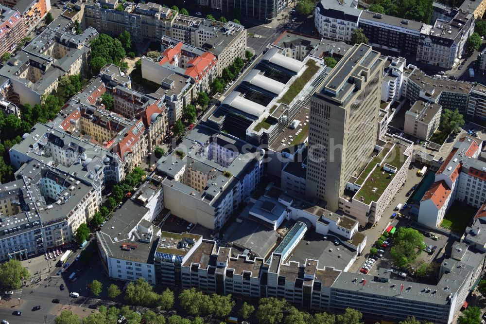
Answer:
[[[329,210],[373,152],[383,65],[371,46],[354,45],[311,98],[306,193]]]

